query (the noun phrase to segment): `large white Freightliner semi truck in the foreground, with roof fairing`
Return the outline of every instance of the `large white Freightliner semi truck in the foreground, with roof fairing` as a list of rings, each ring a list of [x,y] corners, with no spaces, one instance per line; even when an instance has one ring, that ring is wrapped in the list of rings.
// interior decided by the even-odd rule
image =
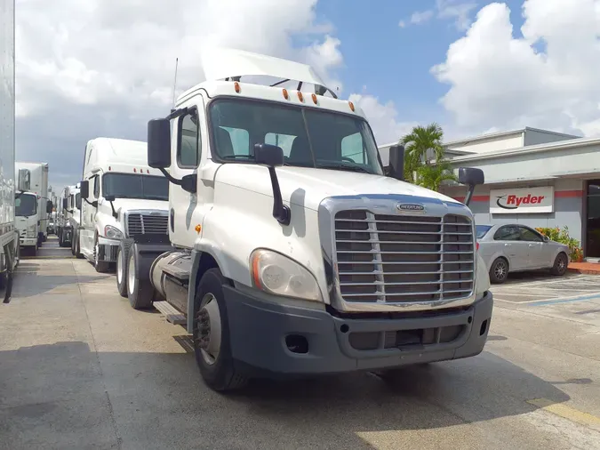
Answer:
[[[401,146],[385,176],[362,110],[308,66],[223,49],[203,65],[207,81],[148,122],[173,248],[140,306],[165,299],[187,317],[204,381],[394,374],[480,353],[492,293],[468,206],[404,182]],[[460,181],[470,198],[484,174]],[[132,253],[144,269],[153,258]]]

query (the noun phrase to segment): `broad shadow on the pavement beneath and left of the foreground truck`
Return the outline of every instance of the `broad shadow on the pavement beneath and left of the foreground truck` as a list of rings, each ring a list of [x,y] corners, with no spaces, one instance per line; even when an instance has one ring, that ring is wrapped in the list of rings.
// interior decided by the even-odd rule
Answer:
[[[372,374],[254,381],[223,395],[189,353],[99,352],[85,342],[0,351],[0,435],[14,450],[136,448],[369,448],[370,432],[428,430],[534,411],[569,399],[505,359]],[[165,432],[166,431],[166,432]]]

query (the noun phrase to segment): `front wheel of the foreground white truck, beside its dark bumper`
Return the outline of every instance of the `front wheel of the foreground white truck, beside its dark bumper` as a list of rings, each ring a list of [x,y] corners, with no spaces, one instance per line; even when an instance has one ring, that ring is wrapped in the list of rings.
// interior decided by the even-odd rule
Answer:
[[[194,352],[204,382],[212,390],[244,387],[247,380],[236,373],[231,356],[229,325],[220,269],[208,269],[198,285],[194,304]]]

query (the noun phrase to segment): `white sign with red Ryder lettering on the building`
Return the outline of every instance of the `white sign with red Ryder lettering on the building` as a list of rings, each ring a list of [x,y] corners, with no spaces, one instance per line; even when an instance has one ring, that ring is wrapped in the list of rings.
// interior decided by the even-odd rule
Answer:
[[[554,188],[498,189],[490,191],[490,213],[552,213]]]

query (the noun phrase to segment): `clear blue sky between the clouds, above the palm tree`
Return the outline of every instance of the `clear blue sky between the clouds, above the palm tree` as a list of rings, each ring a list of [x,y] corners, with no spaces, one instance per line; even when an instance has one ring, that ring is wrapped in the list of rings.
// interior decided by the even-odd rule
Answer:
[[[476,13],[493,2],[455,1],[452,4],[476,4],[469,13]],[[523,25],[522,0],[508,0],[514,35],[521,36]],[[370,5],[369,5],[370,4]],[[410,22],[412,13],[434,11],[433,17],[418,25]],[[338,70],[344,92],[366,91],[381,102],[394,101],[401,121],[447,123],[447,116],[438,100],[449,90],[429,72],[444,62],[452,42],[465,36],[452,19],[436,16],[436,0],[320,0],[316,12],[321,20],[335,27],[340,38],[344,67]],[[407,22],[404,28],[398,24]]]

